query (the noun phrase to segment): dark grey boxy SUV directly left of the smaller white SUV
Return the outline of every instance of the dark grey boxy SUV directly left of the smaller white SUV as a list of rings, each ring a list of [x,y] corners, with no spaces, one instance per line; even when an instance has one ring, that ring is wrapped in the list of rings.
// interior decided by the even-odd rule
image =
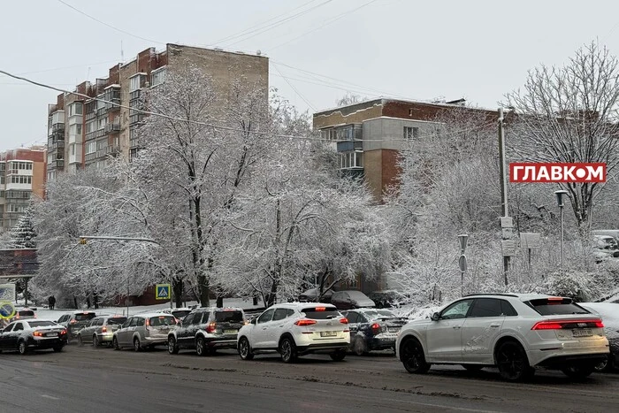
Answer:
[[[190,348],[198,356],[206,356],[218,348],[236,348],[237,334],[243,325],[245,315],[240,308],[201,307],[168,333],[168,352],[177,354],[180,348]]]

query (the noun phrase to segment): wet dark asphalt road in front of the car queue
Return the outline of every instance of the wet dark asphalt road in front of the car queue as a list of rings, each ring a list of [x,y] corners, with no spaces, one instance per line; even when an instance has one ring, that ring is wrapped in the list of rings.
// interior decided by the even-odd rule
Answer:
[[[233,350],[199,357],[164,348],[134,353],[71,345],[62,353],[0,355],[0,410],[21,412],[392,412],[619,409],[619,375],[593,374],[580,383],[538,371],[526,384],[498,372],[436,366],[410,375],[393,355],[278,355],[242,361]]]

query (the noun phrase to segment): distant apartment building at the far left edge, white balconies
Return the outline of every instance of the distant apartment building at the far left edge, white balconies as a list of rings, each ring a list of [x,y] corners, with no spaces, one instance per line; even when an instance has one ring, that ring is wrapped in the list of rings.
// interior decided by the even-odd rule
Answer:
[[[45,191],[45,147],[0,152],[0,228],[17,224],[30,199]]]

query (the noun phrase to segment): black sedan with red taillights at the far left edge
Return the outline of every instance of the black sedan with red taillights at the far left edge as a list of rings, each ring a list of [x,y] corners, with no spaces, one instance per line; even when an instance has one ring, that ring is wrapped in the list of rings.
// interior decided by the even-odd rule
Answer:
[[[54,321],[27,319],[13,321],[0,330],[0,351],[18,351],[53,348],[62,351],[66,344],[66,329]]]

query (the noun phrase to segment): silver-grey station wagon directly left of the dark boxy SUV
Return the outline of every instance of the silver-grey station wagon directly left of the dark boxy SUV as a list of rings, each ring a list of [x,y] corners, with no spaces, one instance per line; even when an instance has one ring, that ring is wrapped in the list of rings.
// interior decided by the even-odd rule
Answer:
[[[115,350],[131,347],[135,351],[164,345],[168,333],[176,326],[176,317],[163,312],[136,314],[126,321],[111,336]]]

